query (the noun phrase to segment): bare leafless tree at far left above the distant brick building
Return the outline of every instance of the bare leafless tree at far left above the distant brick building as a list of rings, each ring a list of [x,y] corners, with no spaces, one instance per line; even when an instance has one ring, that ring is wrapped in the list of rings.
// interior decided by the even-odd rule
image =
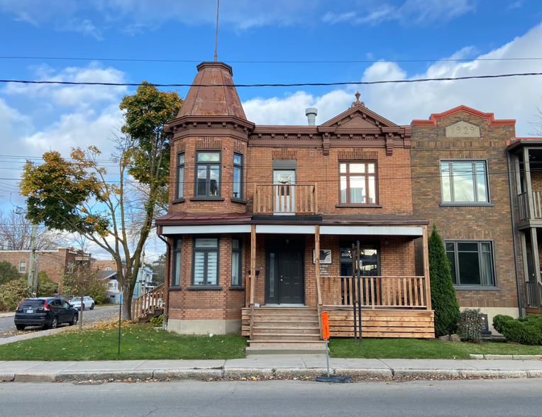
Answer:
[[[15,211],[4,213],[0,210],[0,244],[8,242],[11,250],[29,250],[31,248],[32,223]],[[67,246],[69,240],[58,230],[48,230],[37,226],[35,235],[36,250],[54,250]]]

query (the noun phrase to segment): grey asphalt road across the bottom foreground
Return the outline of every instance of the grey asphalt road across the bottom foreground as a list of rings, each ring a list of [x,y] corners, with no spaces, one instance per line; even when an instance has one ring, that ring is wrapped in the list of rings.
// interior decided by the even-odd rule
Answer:
[[[0,417],[540,416],[542,379],[0,384]],[[30,394],[31,393],[31,394]]]

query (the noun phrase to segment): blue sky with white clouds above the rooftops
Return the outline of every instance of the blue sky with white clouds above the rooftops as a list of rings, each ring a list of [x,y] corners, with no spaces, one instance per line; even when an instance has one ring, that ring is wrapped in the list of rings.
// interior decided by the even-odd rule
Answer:
[[[216,0],[0,0],[0,56],[187,60],[120,62],[0,59],[0,79],[189,83],[212,60]],[[344,82],[542,72],[540,61],[442,62],[453,57],[542,57],[539,0],[222,0],[219,60],[235,82]],[[277,63],[276,61],[434,60],[433,62]],[[272,63],[235,61],[275,61]],[[395,123],[465,104],[516,118],[533,132],[542,77],[375,87],[238,89],[250,121],[317,123],[348,108],[356,90],[367,107]],[[120,124],[127,87],[0,85],[0,155],[67,155],[97,145]],[[179,89],[185,96],[187,89]],[[23,159],[0,157],[0,208]],[[18,204],[22,200],[12,196]]]

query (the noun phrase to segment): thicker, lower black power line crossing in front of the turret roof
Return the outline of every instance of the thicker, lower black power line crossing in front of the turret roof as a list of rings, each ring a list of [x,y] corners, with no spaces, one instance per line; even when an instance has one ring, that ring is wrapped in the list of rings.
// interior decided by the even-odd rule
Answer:
[[[291,84],[142,84],[131,82],[74,82],[74,81],[32,81],[23,79],[0,79],[0,83],[13,82],[16,84],[62,84],[62,85],[101,85],[109,87],[329,87],[340,85],[374,85],[374,84],[411,84],[430,81],[460,81],[465,79],[493,79],[509,77],[531,77],[542,75],[542,72],[519,72],[515,74],[469,75],[467,77],[441,77],[420,79],[390,79],[380,81],[349,81],[349,82],[297,82]]]

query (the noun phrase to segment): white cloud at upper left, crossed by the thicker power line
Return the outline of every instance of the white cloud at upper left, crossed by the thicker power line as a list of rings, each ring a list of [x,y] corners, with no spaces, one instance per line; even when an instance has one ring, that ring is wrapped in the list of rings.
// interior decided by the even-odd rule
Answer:
[[[55,72],[47,65],[36,68],[36,79],[40,81],[67,82],[124,82],[124,73],[113,67],[101,68],[96,63],[88,67],[67,67]],[[120,101],[127,93],[124,86],[91,86],[62,84],[15,84],[9,83],[4,91],[7,94],[23,94],[31,98],[50,99],[59,106],[88,107],[92,104]]]

